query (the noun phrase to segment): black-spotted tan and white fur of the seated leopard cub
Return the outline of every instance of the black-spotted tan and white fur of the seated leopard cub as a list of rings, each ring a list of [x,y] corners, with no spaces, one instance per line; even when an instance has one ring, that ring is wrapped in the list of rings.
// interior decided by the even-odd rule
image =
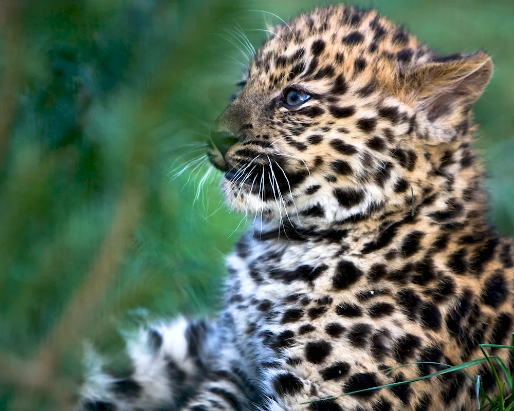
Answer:
[[[475,409],[458,372],[340,396],[510,341],[512,241],[487,221],[472,147],[491,75],[484,52],[437,55],[373,10],[277,27],[213,131],[227,201],[255,216],[225,308],[141,331],[134,373],[97,367],[82,409]],[[289,90],[310,99],[291,108]],[[494,389],[487,366],[467,371]]]

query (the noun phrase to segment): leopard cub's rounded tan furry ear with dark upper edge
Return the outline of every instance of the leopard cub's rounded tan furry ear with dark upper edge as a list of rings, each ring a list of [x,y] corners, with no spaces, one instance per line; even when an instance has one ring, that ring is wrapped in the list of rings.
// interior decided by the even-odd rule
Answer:
[[[429,144],[449,142],[468,130],[468,112],[491,79],[486,53],[436,57],[411,68],[406,85],[417,107],[418,134]]]

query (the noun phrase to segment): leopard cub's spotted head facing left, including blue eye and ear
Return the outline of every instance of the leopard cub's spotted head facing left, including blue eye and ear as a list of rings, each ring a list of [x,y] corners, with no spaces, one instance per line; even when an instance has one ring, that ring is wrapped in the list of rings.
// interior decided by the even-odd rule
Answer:
[[[401,209],[432,187],[492,72],[437,57],[374,11],[333,7],[278,27],[213,128],[234,209],[328,223]]]

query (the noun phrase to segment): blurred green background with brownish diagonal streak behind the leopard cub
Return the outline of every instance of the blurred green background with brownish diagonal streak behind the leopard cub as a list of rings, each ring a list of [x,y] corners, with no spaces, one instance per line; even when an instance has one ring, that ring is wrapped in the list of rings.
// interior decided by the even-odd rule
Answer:
[[[0,410],[68,409],[84,340],[119,352],[117,329],[219,306],[245,221],[191,161],[243,72],[242,33],[257,47],[273,14],[324,4],[0,1]],[[514,234],[512,1],[372,6],[440,53],[492,55],[476,146]]]

